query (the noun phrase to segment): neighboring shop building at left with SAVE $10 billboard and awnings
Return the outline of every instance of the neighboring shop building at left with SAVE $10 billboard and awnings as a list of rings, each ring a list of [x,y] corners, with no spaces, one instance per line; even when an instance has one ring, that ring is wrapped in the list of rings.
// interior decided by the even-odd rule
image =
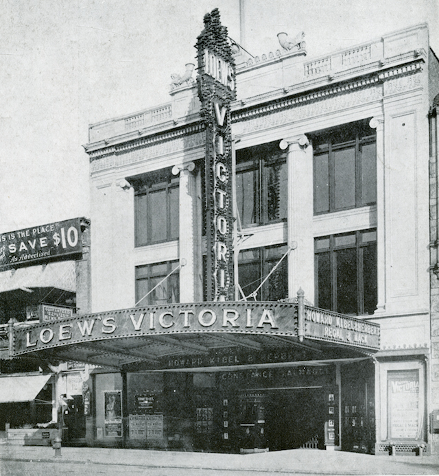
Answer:
[[[0,431],[14,442],[49,444],[62,421],[64,438],[85,438],[81,375],[88,365],[9,359],[8,335],[11,326],[29,329],[90,311],[89,226],[71,219],[0,234]]]

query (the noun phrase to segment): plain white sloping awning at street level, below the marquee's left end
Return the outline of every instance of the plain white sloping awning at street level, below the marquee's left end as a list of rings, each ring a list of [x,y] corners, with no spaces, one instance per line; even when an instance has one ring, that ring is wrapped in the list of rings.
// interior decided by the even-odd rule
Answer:
[[[0,403],[34,400],[50,377],[51,374],[0,377]]]

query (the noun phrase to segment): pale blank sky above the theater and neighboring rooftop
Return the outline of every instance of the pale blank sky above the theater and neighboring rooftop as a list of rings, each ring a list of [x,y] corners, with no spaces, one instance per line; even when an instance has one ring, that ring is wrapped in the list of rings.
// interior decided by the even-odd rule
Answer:
[[[244,0],[241,36],[239,0],[1,0],[0,233],[90,216],[89,124],[169,102],[213,8],[254,56],[303,31],[312,58],[418,23],[439,55],[438,3]]]

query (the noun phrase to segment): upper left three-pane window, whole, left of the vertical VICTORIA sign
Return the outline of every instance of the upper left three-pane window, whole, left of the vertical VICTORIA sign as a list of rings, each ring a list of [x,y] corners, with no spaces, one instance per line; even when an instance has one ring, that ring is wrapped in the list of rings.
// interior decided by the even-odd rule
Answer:
[[[133,184],[136,246],[178,239],[178,177],[149,174]]]

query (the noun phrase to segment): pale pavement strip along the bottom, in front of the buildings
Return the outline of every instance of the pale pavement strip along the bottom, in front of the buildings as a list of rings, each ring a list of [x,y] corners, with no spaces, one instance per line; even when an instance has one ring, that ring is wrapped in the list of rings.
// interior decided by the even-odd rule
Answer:
[[[95,463],[145,468],[198,468],[240,472],[274,471],[326,475],[438,475],[439,456],[375,456],[342,451],[294,449],[230,455],[137,449],[21,447],[0,441],[0,460]]]

